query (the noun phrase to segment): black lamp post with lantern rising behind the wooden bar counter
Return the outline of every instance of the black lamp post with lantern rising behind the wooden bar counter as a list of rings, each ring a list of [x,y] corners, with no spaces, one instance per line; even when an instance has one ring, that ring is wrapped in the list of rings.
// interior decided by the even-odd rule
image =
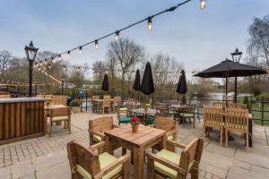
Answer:
[[[25,46],[24,50],[27,56],[27,60],[29,61],[29,97],[31,97],[32,96],[32,71],[33,71],[32,64],[36,58],[39,48],[34,47],[32,41],[30,41],[29,46]]]

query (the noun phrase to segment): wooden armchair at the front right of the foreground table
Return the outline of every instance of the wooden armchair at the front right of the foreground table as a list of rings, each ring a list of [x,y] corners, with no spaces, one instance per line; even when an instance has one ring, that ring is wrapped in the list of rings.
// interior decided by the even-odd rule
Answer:
[[[181,153],[174,153],[167,149],[162,149],[157,154],[147,152],[147,178],[186,179],[187,173],[190,173],[192,179],[197,179],[204,141],[195,139],[187,146],[177,141],[167,142],[182,149]]]

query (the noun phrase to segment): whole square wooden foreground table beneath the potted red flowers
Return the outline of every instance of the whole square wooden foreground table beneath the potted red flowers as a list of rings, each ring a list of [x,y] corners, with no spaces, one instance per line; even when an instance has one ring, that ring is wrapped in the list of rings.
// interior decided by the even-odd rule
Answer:
[[[134,153],[134,178],[143,178],[143,158],[144,151],[151,148],[157,143],[161,143],[161,147],[166,147],[166,132],[161,129],[152,128],[143,124],[139,125],[138,132],[132,132],[130,124],[114,128],[105,132],[106,149],[108,153],[113,155],[113,146],[130,149]]]

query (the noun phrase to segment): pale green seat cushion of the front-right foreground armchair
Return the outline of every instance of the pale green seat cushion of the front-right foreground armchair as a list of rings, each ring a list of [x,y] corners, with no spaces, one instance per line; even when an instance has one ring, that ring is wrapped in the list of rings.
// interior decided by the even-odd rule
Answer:
[[[180,155],[177,153],[171,152],[167,149],[161,149],[161,151],[158,152],[156,155],[161,157],[161,158],[165,158],[165,159],[171,161],[172,163],[179,165]],[[177,178],[177,175],[178,175],[177,171],[175,171],[167,166],[163,166],[159,162],[154,162],[154,169],[156,171],[158,171],[159,173],[161,173],[163,175],[167,175],[173,179]]]

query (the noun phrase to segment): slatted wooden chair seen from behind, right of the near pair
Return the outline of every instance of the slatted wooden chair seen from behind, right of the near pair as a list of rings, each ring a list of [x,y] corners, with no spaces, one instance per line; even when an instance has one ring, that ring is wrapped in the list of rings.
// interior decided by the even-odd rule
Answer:
[[[225,144],[228,147],[229,132],[242,132],[246,136],[247,151],[248,151],[248,111],[243,109],[226,109],[226,121],[225,121]]]

